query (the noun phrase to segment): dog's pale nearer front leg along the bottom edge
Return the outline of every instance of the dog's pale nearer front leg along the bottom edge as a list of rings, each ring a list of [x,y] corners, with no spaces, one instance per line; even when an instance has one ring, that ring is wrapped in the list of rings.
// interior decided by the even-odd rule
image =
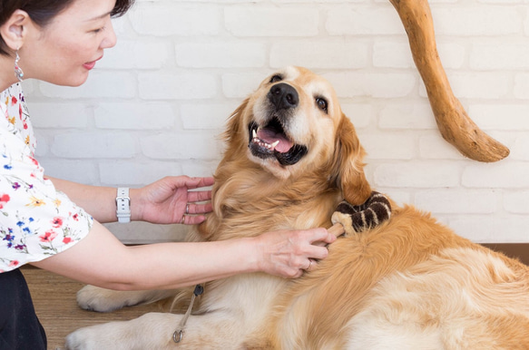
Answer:
[[[180,339],[181,318],[182,315],[149,313],[131,321],[80,328],[66,337],[66,349],[240,349],[245,334],[240,316],[221,311],[190,316]]]

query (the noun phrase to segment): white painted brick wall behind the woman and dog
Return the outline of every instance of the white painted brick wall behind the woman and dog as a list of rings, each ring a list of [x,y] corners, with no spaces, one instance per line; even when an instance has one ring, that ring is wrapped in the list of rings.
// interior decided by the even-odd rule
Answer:
[[[140,0],[79,88],[26,82],[50,175],[142,186],[211,175],[230,112],[278,67],[325,75],[356,124],[373,186],[478,242],[529,242],[529,2],[431,0],[439,54],[473,120],[511,150],[466,160],[436,129],[387,0]],[[110,225],[126,242],[179,227]]]

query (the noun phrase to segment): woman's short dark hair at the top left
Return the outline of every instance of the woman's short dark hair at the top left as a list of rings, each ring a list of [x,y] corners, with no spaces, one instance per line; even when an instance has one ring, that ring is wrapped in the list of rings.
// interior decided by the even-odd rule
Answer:
[[[0,25],[13,15],[15,10],[23,10],[35,24],[44,27],[55,15],[72,5],[75,0],[0,0]],[[134,0],[116,0],[111,16],[124,15],[134,4]],[[4,38],[0,35],[0,54],[9,54]]]

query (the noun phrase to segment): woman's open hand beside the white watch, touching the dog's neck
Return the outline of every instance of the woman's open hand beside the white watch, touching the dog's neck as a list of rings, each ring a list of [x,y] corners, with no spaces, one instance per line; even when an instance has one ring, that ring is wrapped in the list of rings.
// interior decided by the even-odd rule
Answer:
[[[206,219],[203,214],[211,211],[211,190],[194,189],[213,182],[213,178],[170,176],[142,189],[131,189],[131,217],[156,224],[200,224]]]

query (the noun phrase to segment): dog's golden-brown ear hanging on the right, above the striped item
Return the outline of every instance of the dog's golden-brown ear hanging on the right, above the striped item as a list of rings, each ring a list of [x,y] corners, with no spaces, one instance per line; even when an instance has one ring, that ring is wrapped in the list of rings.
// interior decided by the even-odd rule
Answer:
[[[338,126],[334,158],[331,170],[344,199],[352,205],[364,203],[371,194],[371,187],[364,173],[366,151],[360,145],[357,131],[348,117],[342,113]]]

